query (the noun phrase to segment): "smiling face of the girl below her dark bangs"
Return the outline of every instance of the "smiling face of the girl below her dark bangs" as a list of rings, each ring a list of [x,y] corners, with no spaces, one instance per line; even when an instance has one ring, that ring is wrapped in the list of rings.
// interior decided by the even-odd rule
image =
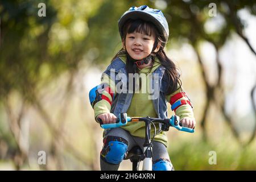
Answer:
[[[123,48],[129,53],[129,55],[135,60],[142,60],[150,55],[155,43],[155,35],[146,35],[143,32],[127,33]],[[155,49],[157,52],[158,47]]]

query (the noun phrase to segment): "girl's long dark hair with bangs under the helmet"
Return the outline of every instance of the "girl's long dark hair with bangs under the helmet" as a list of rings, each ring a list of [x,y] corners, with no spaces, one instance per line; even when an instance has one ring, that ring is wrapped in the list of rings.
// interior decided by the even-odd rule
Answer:
[[[180,73],[176,67],[176,65],[174,64],[174,62],[169,59],[166,55],[166,53],[164,52],[164,45],[166,44],[166,42],[163,41],[163,36],[160,35],[159,31],[157,30],[157,28],[155,27],[155,25],[151,22],[146,22],[144,20],[141,19],[137,19],[137,20],[127,20],[127,22],[123,25],[122,27],[122,31],[123,31],[123,38],[122,38],[122,42],[125,43],[125,38],[127,34],[131,34],[133,32],[140,32],[143,34],[146,34],[148,36],[151,36],[152,34],[155,35],[155,43],[153,46],[152,51],[155,50],[155,48],[160,44],[160,48],[158,52],[151,52],[151,55],[154,55],[156,57],[158,57],[160,63],[163,65],[164,68],[166,68],[166,71],[164,72],[164,77],[166,78],[167,82],[168,82],[168,88],[167,88],[167,92],[165,93],[166,95],[170,95],[171,93],[174,93],[178,86],[181,88],[181,80],[180,80]],[[139,70],[137,68],[137,66],[135,66],[134,64],[134,60],[131,59],[131,57],[128,55],[128,53],[126,52],[125,49],[121,49],[120,51],[117,52],[117,54],[114,56],[113,60],[121,55],[126,55],[127,56],[127,61],[126,61],[126,69],[127,69],[127,73],[138,73]],[[112,60],[112,61],[113,61]],[[154,57],[152,59],[152,63],[154,64]],[[152,66],[150,68],[150,71],[152,69]],[[150,72],[149,71],[149,72]],[[141,87],[141,85],[140,85]],[[134,86],[135,88],[135,86]]]

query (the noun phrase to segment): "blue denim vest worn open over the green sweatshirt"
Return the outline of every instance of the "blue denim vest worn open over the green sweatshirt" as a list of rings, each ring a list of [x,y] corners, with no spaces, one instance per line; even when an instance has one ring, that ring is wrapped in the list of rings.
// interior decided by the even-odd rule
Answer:
[[[158,114],[158,118],[162,119],[167,118],[167,101],[164,93],[166,92],[168,85],[167,81],[163,78],[165,70],[166,68],[160,65],[152,73],[150,86],[150,93],[158,92],[156,93],[158,95],[157,97],[152,97],[152,102],[154,103],[154,109],[155,112]],[[112,61],[112,63],[108,66],[104,73],[110,76],[110,78],[115,81],[115,85],[117,85],[118,82],[122,81],[121,88],[127,89],[127,80],[123,79],[123,77],[121,76],[125,75],[127,78],[126,65],[119,57],[115,58]],[[154,85],[156,85],[156,87]],[[110,113],[113,113],[116,117],[118,117],[119,113],[126,113],[131,104],[132,98],[133,93],[116,93],[112,101]]]

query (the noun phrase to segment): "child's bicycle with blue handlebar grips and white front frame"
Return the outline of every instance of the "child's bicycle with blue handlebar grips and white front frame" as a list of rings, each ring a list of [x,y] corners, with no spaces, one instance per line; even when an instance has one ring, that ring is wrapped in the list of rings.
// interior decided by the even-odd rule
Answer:
[[[164,118],[150,118],[150,117],[127,117],[126,113],[120,113],[116,123],[102,124],[101,119],[99,118],[102,129],[110,129],[114,127],[125,126],[127,122],[145,122],[145,142],[143,144],[143,152],[139,146],[135,146],[128,151],[128,154],[124,160],[130,159],[133,163],[133,171],[139,170],[139,163],[143,161],[142,170],[143,171],[152,171],[152,142],[151,142],[151,124],[154,126],[155,133],[152,137],[156,135],[156,127],[154,123],[162,123],[162,130],[168,131],[170,126],[175,127],[177,130],[186,131],[188,133],[194,133],[195,130],[181,126],[179,117],[177,115],[172,115],[170,119]]]

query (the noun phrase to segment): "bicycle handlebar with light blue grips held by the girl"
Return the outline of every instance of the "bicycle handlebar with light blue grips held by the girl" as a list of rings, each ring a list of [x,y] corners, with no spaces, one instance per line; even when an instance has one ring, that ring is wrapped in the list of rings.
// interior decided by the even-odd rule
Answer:
[[[98,118],[99,121],[100,118]],[[126,113],[120,113],[119,117],[117,119],[116,123],[110,123],[110,124],[104,124],[101,125],[102,129],[110,129],[114,127],[120,127],[120,126],[125,126],[127,122],[138,122],[138,121],[151,121],[151,122],[158,122],[162,123],[162,128],[164,128],[164,131],[168,131],[169,127],[175,127],[175,129],[180,130],[180,131],[185,131],[188,133],[194,133],[195,130],[191,129],[189,127],[183,127],[181,126],[180,123],[180,118],[177,115],[172,115],[170,119],[160,119],[160,118],[150,118],[150,117],[127,117]],[[101,119],[100,119],[101,123]]]

